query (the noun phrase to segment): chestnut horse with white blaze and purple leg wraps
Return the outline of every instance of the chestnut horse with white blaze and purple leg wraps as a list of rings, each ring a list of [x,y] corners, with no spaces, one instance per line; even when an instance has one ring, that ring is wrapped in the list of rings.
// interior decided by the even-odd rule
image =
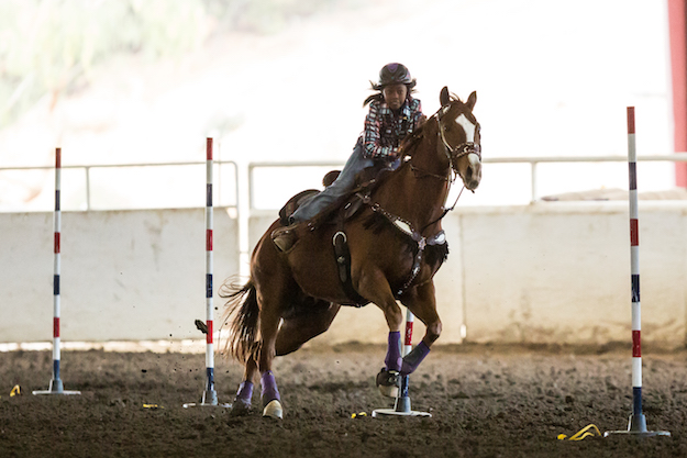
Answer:
[[[229,298],[225,316],[231,323],[226,350],[245,364],[232,415],[251,410],[259,371],[263,416],[282,417],[273,359],[326,331],[341,304],[373,302],[384,312],[389,348],[377,376],[384,394],[392,395],[399,373],[418,367],[441,334],[432,278],[448,253],[441,220],[451,183],[459,176],[474,190],[481,178],[476,99],[473,92],[462,102],[444,87],[439,111],[402,141],[401,165],[363,196],[361,209],[339,226],[301,224],[298,242],[286,253],[270,239],[279,221],[265,232],[252,255],[250,280],[242,287],[224,284],[222,293]],[[348,288],[332,249],[334,234],[347,242]],[[402,359],[403,317],[397,300],[426,326],[422,343]]]

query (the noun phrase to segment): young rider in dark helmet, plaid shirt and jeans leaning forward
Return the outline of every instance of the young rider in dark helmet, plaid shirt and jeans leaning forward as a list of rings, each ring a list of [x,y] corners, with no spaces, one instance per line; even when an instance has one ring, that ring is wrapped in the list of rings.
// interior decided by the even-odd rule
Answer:
[[[411,93],[415,80],[402,64],[387,64],[379,71],[379,82],[372,82],[372,94],[365,118],[365,131],[358,137],[353,154],[343,170],[322,192],[313,196],[293,212],[290,224],[272,233],[272,239],[281,252],[289,250],[297,242],[296,226],[311,220],[322,210],[348,193],[355,185],[355,176],[367,167],[396,168],[400,161],[401,139],[415,131],[425,116],[420,100]]]

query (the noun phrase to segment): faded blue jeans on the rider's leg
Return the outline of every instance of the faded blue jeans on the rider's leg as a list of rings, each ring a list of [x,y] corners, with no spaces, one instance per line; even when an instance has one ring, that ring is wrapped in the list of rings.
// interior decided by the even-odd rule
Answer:
[[[397,163],[399,161],[397,160],[394,165],[398,167]],[[373,159],[363,157],[363,142],[358,139],[353,148],[353,154],[334,182],[324,188],[320,193],[314,194],[301,203],[298,210],[291,215],[291,222],[301,223],[314,217],[318,213],[344,197],[355,187],[355,176],[359,171],[367,167],[377,166],[378,164],[379,163],[375,163]],[[396,168],[394,165],[392,168]]]

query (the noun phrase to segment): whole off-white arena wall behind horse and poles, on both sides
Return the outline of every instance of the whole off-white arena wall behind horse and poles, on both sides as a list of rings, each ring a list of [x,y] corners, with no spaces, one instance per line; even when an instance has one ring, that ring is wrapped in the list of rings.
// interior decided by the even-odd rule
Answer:
[[[251,247],[275,212],[250,217]],[[239,223],[215,211],[215,294],[239,272]],[[444,220],[436,277],[442,343],[606,344],[630,339],[627,202],[462,208]],[[0,342],[52,336],[52,213],[0,214]],[[640,203],[643,339],[684,346],[687,203]],[[65,212],[63,340],[200,338],[203,210]],[[215,295],[219,320],[223,300]],[[415,324],[415,340],[423,333]],[[346,308],[311,345],[386,342],[374,305]]]

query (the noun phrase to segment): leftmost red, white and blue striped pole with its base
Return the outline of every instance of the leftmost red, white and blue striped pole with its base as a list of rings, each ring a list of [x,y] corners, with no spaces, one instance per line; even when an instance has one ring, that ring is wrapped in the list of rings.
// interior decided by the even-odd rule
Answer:
[[[47,391],[34,391],[33,394],[81,394],[79,391],[65,391],[59,378],[59,270],[60,270],[60,231],[62,231],[62,148],[55,149],[55,211],[53,213],[54,237],[53,237],[53,378]]]

